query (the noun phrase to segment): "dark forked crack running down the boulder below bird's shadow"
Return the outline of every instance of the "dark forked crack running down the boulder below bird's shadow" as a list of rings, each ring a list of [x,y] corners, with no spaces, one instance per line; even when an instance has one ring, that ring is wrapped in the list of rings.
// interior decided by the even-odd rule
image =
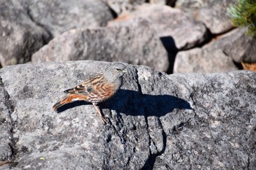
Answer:
[[[159,118],[157,119],[159,121],[159,125],[161,126],[162,128],[162,123],[161,123],[161,120],[159,120]],[[148,128],[148,119],[146,117],[146,125],[147,125],[147,128]],[[157,160],[157,157],[162,155],[163,152],[165,152],[165,148],[166,148],[166,142],[167,142],[167,135],[164,131],[164,129],[162,128],[162,140],[163,140],[163,147],[162,147],[162,150],[157,152],[157,153],[152,153],[150,151],[149,153],[149,156],[148,156],[148,159],[146,160],[146,163],[144,164],[142,170],[150,170],[150,169],[153,169],[154,168],[154,163],[156,162]],[[148,136],[149,136],[149,146],[151,145],[151,142],[153,142],[153,140],[151,139],[151,136],[150,134],[148,133]]]

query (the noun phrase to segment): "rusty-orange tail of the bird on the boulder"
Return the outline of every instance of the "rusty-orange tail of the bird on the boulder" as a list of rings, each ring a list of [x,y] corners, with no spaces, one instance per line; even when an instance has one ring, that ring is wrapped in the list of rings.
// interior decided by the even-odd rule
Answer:
[[[73,101],[83,101],[83,100],[86,101],[87,96],[71,94],[71,95],[67,96],[66,98],[64,98],[63,100],[54,104],[53,110],[56,111],[60,107],[63,107],[65,104],[72,103]]]

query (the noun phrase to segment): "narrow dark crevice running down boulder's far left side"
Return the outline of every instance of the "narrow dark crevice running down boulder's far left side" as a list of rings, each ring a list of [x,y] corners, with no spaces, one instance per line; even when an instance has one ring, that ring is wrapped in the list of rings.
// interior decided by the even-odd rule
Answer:
[[[4,88],[4,82],[2,81],[1,77],[0,77],[0,86],[2,86]],[[18,164],[17,162],[15,162],[16,155],[18,152],[18,150],[17,150],[18,139],[15,139],[15,137],[14,137],[15,132],[13,130],[15,127],[15,122],[14,122],[14,120],[12,120],[12,112],[14,112],[15,105],[11,101],[10,95],[5,88],[4,88],[4,105],[7,107],[8,116],[10,118],[10,123],[11,123],[11,128],[10,128],[11,142],[10,142],[9,146],[10,146],[12,153],[11,153],[11,157],[10,157],[11,160],[7,160],[6,163],[10,163],[10,166],[14,167]]]

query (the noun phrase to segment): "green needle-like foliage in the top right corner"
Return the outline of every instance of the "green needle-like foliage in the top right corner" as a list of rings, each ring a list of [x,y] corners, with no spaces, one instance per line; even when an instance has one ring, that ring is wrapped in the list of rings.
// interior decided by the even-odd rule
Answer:
[[[238,0],[227,12],[234,26],[247,26],[247,34],[256,36],[256,0]]]

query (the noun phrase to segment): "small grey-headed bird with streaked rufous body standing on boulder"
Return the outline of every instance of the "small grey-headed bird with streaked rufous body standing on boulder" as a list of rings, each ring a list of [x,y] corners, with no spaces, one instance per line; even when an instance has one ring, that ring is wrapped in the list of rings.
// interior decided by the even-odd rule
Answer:
[[[123,63],[110,64],[105,72],[97,74],[81,85],[75,86],[75,88],[64,90],[64,93],[69,94],[69,96],[54,104],[53,110],[57,111],[60,107],[73,101],[86,101],[93,104],[96,112],[107,123],[97,104],[107,101],[116,94],[122,85],[125,73],[127,73],[127,67]]]

